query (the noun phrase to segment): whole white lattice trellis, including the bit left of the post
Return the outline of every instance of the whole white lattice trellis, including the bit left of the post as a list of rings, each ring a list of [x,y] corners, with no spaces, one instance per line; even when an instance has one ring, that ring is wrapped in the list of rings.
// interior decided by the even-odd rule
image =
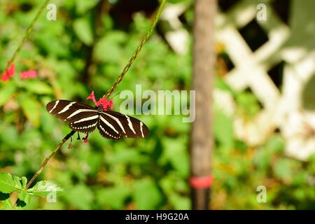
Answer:
[[[260,12],[258,4],[266,6],[267,20],[256,19]],[[187,7],[184,4],[169,4],[166,8],[169,10],[165,10],[162,20],[168,21],[173,28],[168,32],[167,41],[176,52],[186,52],[187,48],[183,46],[187,46],[188,33],[183,30],[178,16]],[[279,128],[286,139],[287,155],[300,160],[307,160],[311,153],[315,153],[315,138],[307,137],[303,125],[307,123],[315,130],[315,113],[305,111],[301,103],[303,87],[315,73],[313,8],[314,0],[292,0],[288,26],[281,22],[269,1],[243,0],[228,12],[218,12],[216,20],[216,41],[223,43],[235,65],[226,74],[225,80],[237,91],[250,87],[263,109],[258,116],[248,121],[235,113],[235,102],[227,92],[215,90],[216,103],[233,116],[235,134],[239,139],[250,145],[259,145]],[[269,38],[255,52],[249,48],[238,30],[253,20],[258,22]],[[177,48],[179,45],[182,48]],[[286,62],[282,92],[267,73],[281,61]]]

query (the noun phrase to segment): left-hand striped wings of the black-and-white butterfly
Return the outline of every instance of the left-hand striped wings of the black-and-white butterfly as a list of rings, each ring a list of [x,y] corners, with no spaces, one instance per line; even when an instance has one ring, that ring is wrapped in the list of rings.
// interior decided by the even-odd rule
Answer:
[[[59,99],[49,102],[46,109],[53,116],[69,123],[71,130],[76,132],[93,132],[99,122],[97,110],[79,102]]]

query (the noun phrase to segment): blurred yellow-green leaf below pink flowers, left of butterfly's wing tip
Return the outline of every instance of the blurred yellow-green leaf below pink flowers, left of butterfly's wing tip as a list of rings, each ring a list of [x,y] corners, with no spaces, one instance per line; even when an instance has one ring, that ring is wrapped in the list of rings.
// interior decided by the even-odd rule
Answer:
[[[20,105],[22,106],[22,110],[27,119],[30,120],[35,127],[38,127],[40,116],[39,110],[41,107],[40,104],[34,99],[20,97]]]

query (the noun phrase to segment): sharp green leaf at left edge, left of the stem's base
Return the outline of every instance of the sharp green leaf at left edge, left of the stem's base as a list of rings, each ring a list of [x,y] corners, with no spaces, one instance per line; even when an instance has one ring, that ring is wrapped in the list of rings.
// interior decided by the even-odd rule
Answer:
[[[15,190],[22,190],[20,177],[8,173],[0,173],[0,192],[13,193]]]

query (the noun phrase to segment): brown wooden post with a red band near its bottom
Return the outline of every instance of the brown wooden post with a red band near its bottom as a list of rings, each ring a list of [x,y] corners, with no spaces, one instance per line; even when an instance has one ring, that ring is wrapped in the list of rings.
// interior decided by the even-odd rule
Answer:
[[[195,0],[193,90],[195,121],[190,134],[190,186],[193,209],[209,209],[211,177],[214,18],[216,0]]]

